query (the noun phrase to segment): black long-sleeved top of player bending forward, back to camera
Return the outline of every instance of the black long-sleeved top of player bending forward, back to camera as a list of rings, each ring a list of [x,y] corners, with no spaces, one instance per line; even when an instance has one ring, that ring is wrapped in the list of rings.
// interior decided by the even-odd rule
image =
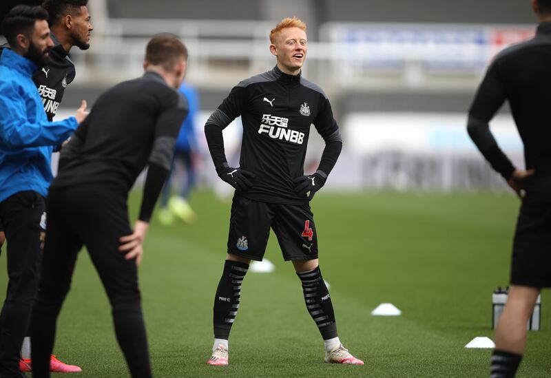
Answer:
[[[98,98],[61,151],[50,190],[100,185],[127,193],[149,165],[140,213],[149,221],[187,111],[185,97],[155,72],[115,85]]]

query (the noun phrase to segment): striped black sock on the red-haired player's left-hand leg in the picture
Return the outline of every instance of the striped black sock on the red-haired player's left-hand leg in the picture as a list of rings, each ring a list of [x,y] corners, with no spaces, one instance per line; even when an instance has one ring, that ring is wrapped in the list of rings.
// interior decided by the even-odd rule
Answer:
[[[231,325],[236,319],[241,298],[241,284],[249,265],[226,260],[224,271],[214,297],[214,337],[228,339]]]

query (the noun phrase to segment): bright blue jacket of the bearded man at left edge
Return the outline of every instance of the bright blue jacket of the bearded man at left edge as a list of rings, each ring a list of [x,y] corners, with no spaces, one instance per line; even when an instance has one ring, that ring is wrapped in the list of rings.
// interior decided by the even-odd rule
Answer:
[[[29,59],[0,56],[0,202],[20,191],[48,193],[52,151],[78,126],[76,118],[48,122]]]

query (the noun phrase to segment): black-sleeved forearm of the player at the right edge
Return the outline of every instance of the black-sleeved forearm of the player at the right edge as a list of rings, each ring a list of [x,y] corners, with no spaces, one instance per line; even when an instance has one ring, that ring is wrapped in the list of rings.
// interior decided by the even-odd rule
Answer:
[[[492,168],[508,180],[514,171],[514,165],[497,145],[497,141],[490,132],[490,125],[469,116],[467,132],[484,158],[490,162]]]

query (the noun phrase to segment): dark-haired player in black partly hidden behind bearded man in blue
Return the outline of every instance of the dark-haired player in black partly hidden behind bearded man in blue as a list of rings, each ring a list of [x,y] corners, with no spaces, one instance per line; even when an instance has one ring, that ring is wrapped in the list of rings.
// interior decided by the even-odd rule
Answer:
[[[43,3],[43,8],[48,12],[50,37],[54,41],[54,47],[49,51],[48,63],[39,67],[34,72],[32,79],[42,97],[48,120],[54,119],[57,108],[63,99],[65,88],[72,83],[75,77],[74,63],[68,56],[71,48],[73,46],[77,46],[81,50],[90,48],[90,32],[93,28],[90,23],[87,3],[87,0],[46,0]],[[0,54],[3,48],[9,48],[9,45],[0,46]],[[1,229],[0,222],[0,231]],[[23,340],[19,366],[23,372],[32,370],[29,337],[25,337]],[[64,364],[54,355],[51,357],[50,368],[54,372],[81,371],[79,366]]]

